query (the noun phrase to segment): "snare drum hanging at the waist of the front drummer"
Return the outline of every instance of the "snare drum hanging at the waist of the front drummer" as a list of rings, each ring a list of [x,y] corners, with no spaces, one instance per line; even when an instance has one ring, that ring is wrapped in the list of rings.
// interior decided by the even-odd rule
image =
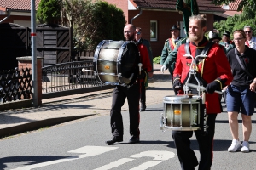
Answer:
[[[164,98],[163,125],[179,131],[199,130],[201,96],[166,96]]]

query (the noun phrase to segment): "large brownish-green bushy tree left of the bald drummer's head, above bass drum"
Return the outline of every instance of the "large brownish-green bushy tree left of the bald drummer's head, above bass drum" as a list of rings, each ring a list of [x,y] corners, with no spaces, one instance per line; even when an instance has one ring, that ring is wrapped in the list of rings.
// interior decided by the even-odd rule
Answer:
[[[74,46],[95,49],[102,40],[123,39],[124,12],[103,1],[64,0],[61,3],[62,23],[73,27]]]

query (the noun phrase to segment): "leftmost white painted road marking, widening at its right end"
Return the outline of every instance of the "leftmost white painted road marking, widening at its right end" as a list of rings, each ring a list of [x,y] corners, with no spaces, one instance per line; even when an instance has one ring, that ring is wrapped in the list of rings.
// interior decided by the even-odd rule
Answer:
[[[67,157],[64,159],[60,159],[60,160],[47,161],[47,162],[43,162],[43,163],[28,165],[25,167],[18,167],[13,170],[30,170],[30,169],[37,168],[37,167],[46,167],[49,165],[54,165],[54,164],[65,162],[65,161],[74,161],[74,160],[82,159],[84,157],[97,156],[97,155],[103,154],[105,152],[108,152],[111,150],[116,150],[116,149],[118,149],[118,147],[84,146],[84,147],[76,149],[76,150],[68,151],[68,152],[72,152],[72,153],[83,153],[83,155],[70,156],[70,157]]]

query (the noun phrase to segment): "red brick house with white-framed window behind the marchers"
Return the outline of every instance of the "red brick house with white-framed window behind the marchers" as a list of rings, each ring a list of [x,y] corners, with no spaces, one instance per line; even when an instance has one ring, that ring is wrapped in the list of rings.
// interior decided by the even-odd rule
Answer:
[[[183,15],[176,10],[177,0],[105,0],[121,8],[127,23],[139,26],[143,38],[150,40],[153,56],[160,56],[164,43],[171,37],[174,24],[183,28]],[[213,29],[214,15],[225,11],[211,3],[211,0],[197,0],[200,14],[207,14],[207,30]],[[181,31],[181,37],[185,37]]]

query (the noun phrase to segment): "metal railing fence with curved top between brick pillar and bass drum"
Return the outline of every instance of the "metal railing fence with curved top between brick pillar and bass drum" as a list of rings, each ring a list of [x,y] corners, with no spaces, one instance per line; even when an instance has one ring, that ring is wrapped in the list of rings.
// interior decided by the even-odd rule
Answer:
[[[82,69],[86,70],[83,72]],[[43,99],[106,89],[96,81],[92,60],[73,61],[42,68]]]

